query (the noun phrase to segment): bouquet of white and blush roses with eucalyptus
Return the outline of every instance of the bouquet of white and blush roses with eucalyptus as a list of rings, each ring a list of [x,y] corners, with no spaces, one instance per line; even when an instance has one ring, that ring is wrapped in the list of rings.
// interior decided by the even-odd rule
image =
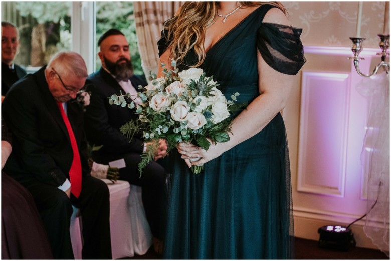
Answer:
[[[155,74],[151,74],[151,82],[145,87],[139,86],[142,91],[138,92],[138,97],[143,101],[136,109],[139,122],[130,121],[121,127],[121,132],[129,139],[138,129],[143,129],[148,146],[139,164],[140,174],[153,160],[161,138],[167,141],[167,152],[182,141],[205,150],[211,145],[207,138],[215,144],[229,141],[231,113],[245,105],[234,104],[239,93],[234,93],[232,100],[227,100],[216,88],[219,84],[213,76],[207,77],[202,69],[190,68],[179,72],[175,61],[171,65],[174,69],[167,70],[162,64],[163,77],[156,78]],[[130,98],[130,94],[112,95],[109,103],[134,108],[134,102],[129,104],[125,98]],[[203,167],[192,166],[192,171],[200,173]]]

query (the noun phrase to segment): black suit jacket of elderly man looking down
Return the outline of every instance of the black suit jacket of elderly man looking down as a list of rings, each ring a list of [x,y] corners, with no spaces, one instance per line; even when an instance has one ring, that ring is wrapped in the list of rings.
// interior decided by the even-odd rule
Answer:
[[[69,179],[73,151],[64,120],[49,91],[45,66],[7,93],[2,116],[13,134],[5,171],[21,183],[37,179],[58,187]],[[79,147],[82,175],[88,173],[83,110],[68,101],[68,118]]]

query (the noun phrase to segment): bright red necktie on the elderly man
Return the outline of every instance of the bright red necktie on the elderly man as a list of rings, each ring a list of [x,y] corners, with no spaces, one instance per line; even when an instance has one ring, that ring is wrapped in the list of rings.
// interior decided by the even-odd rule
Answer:
[[[57,106],[60,109],[61,116],[63,117],[65,126],[67,126],[69,139],[71,140],[71,146],[73,150],[73,160],[71,169],[69,170],[69,178],[71,181],[71,192],[72,194],[78,198],[81,191],[81,162],[79,149],[77,148],[77,143],[75,139],[75,135],[73,134],[71,124],[69,123],[68,117],[65,114],[63,105],[60,102],[57,102]]]

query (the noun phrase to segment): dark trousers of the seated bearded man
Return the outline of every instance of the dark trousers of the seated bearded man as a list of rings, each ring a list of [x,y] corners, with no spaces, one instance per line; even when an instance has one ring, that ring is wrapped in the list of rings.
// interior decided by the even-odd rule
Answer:
[[[127,153],[122,155],[98,154],[93,152],[93,159],[100,164],[124,159],[126,167],[119,169],[119,179],[130,184],[141,186],[142,203],[145,216],[151,228],[152,235],[162,238],[162,224],[166,210],[166,172],[158,162],[151,161],[143,170],[140,177],[138,163],[141,162],[140,153]]]

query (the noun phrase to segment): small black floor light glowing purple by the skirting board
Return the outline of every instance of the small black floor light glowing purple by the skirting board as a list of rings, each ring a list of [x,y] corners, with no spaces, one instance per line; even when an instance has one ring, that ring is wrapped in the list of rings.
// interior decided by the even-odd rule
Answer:
[[[318,245],[321,248],[347,251],[356,246],[356,240],[349,227],[326,225],[320,227],[318,233],[320,234]]]

